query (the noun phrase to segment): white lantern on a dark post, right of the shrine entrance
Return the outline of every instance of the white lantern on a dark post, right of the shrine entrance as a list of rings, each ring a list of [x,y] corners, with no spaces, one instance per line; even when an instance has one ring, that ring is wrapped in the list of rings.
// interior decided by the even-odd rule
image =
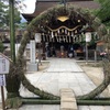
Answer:
[[[88,63],[88,43],[91,41],[91,33],[86,32],[86,64]]]

